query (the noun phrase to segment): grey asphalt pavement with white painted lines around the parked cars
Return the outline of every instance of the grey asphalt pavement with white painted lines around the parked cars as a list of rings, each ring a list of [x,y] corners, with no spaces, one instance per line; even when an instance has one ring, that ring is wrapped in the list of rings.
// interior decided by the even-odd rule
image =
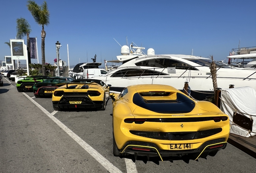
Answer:
[[[15,86],[0,87],[0,173],[256,173],[256,159],[231,144],[198,161],[114,157],[111,100],[105,111],[54,111],[51,98]]]

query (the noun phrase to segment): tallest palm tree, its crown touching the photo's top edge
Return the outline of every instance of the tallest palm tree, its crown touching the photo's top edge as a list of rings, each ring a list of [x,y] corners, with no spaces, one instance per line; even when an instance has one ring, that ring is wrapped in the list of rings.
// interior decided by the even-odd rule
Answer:
[[[33,18],[35,19],[35,22],[42,26],[42,30],[41,30],[42,73],[43,73],[43,75],[45,75],[45,66],[44,66],[45,65],[45,44],[44,44],[44,40],[45,40],[46,32],[44,31],[44,26],[47,26],[48,24],[50,24],[50,12],[47,8],[47,4],[45,1],[43,2],[43,4],[41,6],[37,5],[35,3],[35,1],[33,1],[33,0],[29,0],[27,3],[28,3],[27,4],[28,10],[31,12]]]

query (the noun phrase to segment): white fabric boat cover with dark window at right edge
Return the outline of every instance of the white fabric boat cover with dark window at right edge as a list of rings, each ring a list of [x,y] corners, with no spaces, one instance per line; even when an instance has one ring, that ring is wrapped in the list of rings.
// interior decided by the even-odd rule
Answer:
[[[230,133],[243,137],[256,135],[256,91],[252,87],[239,87],[221,90],[221,111],[229,116]],[[252,131],[233,122],[234,113],[253,120]]]

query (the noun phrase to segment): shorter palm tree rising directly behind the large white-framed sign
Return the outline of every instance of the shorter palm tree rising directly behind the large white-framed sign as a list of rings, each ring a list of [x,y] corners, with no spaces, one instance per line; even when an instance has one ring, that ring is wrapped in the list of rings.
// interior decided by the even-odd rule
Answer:
[[[29,22],[25,18],[17,18],[17,39],[22,39],[25,35],[27,35],[27,56],[28,63],[31,64],[30,59],[30,49],[29,49],[29,34],[31,32]]]

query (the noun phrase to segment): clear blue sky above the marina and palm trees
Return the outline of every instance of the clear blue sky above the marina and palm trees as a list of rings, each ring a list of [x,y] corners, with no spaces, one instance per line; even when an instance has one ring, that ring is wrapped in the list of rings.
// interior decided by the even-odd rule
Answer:
[[[43,0],[35,0],[39,5]],[[224,60],[232,48],[256,46],[256,0],[46,0],[50,24],[45,26],[45,62],[54,63],[56,41],[60,59],[80,62],[116,60],[121,44],[153,48],[155,54],[188,54]],[[27,0],[0,5],[0,60],[10,56],[4,42],[15,39],[16,20],[31,25],[41,63],[41,26],[27,9]],[[27,42],[27,38],[24,37]],[[31,60],[37,63],[37,60]],[[23,62],[22,62],[23,63]],[[25,62],[24,62],[25,63]]]

